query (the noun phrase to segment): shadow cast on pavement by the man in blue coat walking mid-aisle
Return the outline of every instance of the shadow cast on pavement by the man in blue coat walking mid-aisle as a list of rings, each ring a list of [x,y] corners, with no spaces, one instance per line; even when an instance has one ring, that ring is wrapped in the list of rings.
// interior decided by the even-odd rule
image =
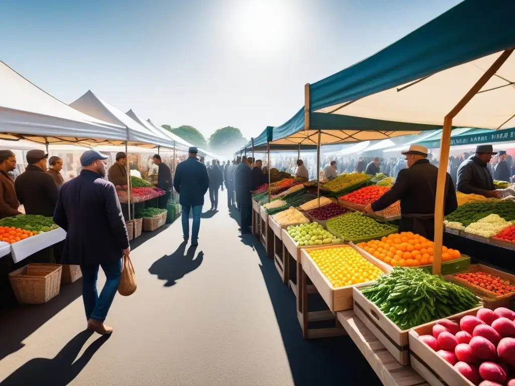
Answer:
[[[173,254],[165,255],[159,260],[154,261],[148,272],[152,275],[158,275],[160,280],[166,280],[165,287],[175,285],[177,283],[176,280],[200,267],[204,259],[204,252],[202,251],[195,257],[197,250],[195,245],[191,245],[184,255],[185,249],[186,242],[183,241]]]

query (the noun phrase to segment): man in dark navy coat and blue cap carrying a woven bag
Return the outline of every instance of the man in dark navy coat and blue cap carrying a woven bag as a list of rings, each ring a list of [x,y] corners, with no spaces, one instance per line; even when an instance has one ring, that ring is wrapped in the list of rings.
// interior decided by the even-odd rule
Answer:
[[[108,157],[88,150],[80,157],[78,177],[59,189],[54,222],[66,231],[63,264],[80,265],[82,299],[88,328],[98,334],[113,329],[104,324],[118,289],[122,257],[129,256],[129,237],[114,185],[105,180]],[[98,269],[106,274],[106,284],[97,293]]]

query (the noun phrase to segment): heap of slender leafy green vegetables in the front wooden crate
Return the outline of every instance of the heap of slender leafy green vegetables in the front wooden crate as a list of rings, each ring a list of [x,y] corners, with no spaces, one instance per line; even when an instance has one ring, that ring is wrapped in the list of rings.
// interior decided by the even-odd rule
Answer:
[[[470,290],[424,270],[394,267],[362,293],[399,328],[406,330],[477,307]]]

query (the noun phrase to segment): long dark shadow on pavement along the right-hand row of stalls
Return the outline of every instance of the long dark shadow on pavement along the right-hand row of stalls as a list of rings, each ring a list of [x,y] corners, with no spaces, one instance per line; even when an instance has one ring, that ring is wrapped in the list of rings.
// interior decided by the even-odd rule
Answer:
[[[239,211],[230,216],[239,220]],[[366,384],[380,386],[370,365],[349,337],[304,340],[297,319],[295,295],[281,281],[273,260],[263,245],[251,234],[240,235],[245,245],[252,247],[261,260],[261,271],[288,356],[296,386],[314,384]]]

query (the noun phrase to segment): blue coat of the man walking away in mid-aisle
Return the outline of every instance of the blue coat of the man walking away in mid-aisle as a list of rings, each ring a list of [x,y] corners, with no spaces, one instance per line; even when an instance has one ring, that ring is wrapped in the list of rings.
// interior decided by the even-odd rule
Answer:
[[[177,165],[174,188],[179,193],[181,205],[203,205],[209,188],[208,170],[196,158],[189,157]]]

